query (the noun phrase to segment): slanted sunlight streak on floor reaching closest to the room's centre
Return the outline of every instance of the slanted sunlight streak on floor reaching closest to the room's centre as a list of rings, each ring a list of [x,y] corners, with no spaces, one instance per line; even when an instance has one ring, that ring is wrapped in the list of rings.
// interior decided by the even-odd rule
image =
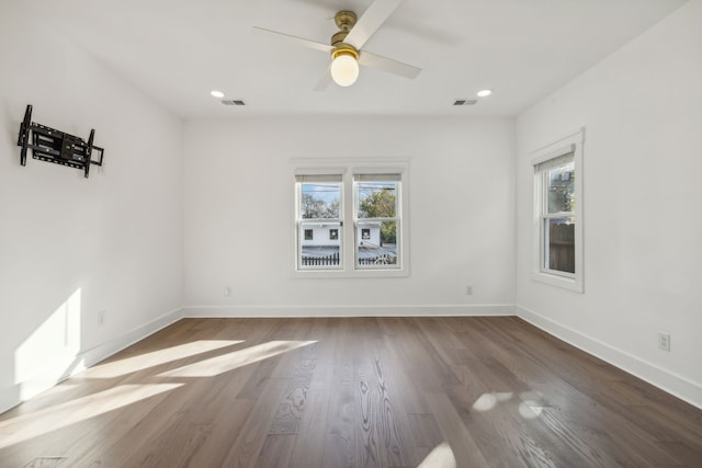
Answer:
[[[168,370],[158,377],[214,377],[248,364],[316,343],[316,341],[269,341],[244,350]]]

